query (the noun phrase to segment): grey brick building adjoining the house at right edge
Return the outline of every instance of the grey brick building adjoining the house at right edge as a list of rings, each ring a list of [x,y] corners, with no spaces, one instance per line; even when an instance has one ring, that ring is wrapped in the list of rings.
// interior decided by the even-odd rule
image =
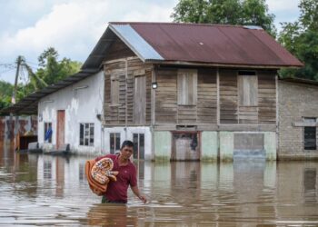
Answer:
[[[318,83],[279,80],[278,97],[278,159],[318,159]]]

